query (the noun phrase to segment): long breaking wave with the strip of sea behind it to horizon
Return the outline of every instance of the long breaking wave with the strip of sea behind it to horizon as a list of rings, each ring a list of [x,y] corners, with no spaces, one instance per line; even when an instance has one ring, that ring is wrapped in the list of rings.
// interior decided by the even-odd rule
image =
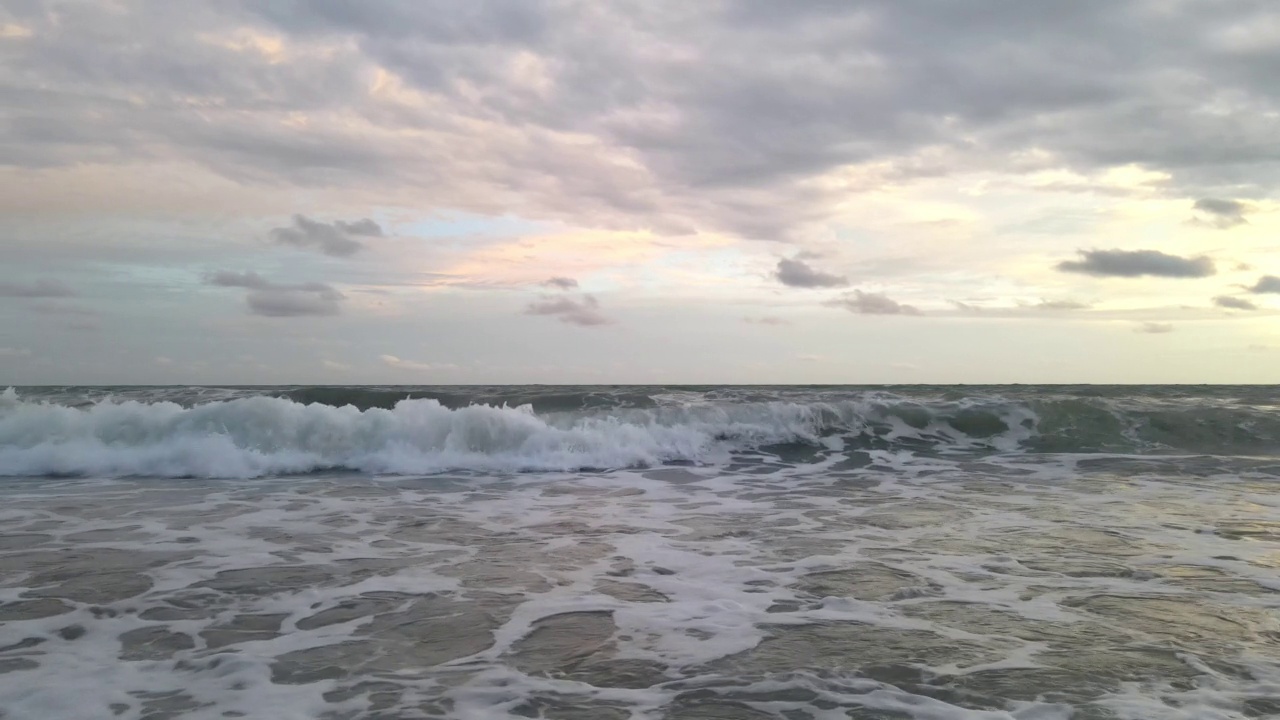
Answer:
[[[1280,452],[1275,388],[29,388],[0,475],[570,471],[749,451]]]

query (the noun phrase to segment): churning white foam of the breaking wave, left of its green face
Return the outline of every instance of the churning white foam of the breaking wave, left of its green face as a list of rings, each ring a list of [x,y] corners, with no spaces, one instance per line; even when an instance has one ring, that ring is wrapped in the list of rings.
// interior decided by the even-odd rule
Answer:
[[[417,474],[714,462],[736,448],[815,442],[818,409],[758,404],[536,415],[530,406],[403,400],[390,410],[248,397],[183,407],[0,401],[3,475],[251,478],[347,469]]]

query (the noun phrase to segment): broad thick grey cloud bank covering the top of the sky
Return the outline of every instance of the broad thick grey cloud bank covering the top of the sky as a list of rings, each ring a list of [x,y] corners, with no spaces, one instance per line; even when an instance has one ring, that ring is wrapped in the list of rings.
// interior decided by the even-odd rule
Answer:
[[[1171,176],[1162,192],[1210,200],[1267,196],[1280,167],[1263,0],[32,0],[10,15],[31,36],[6,41],[0,155],[23,167],[179,159],[769,240],[829,218],[844,191],[812,181],[849,163],[895,179],[1142,164]],[[428,100],[372,101],[379,68]]]

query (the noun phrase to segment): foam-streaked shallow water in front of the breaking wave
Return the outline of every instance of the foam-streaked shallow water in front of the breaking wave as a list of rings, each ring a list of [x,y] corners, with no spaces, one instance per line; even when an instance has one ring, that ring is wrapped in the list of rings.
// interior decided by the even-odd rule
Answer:
[[[838,442],[837,442],[838,441]],[[1270,455],[0,480],[0,717],[1280,715]]]

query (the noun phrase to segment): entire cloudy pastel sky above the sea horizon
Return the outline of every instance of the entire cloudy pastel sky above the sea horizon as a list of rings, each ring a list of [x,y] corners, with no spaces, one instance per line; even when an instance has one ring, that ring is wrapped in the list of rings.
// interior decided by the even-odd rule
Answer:
[[[1280,383],[1274,0],[6,0],[0,386]]]

